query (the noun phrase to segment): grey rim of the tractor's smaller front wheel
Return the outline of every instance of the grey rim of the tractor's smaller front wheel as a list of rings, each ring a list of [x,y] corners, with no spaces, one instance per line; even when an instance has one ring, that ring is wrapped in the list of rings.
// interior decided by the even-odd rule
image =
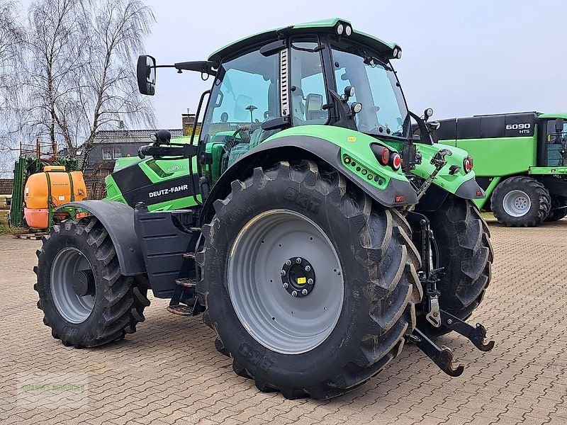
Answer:
[[[50,288],[53,303],[67,322],[82,323],[93,311],[93,269],[78,249],[65,248],[57,253],[51,266]]]

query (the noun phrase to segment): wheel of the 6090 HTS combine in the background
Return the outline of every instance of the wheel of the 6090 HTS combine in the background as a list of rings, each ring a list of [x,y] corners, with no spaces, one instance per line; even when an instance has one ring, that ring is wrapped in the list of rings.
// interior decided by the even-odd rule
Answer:
[[[507,227],[534,227],[549,215],[551,196],[536,179],[510,177],[494,189],[490,208],[498,222]]]

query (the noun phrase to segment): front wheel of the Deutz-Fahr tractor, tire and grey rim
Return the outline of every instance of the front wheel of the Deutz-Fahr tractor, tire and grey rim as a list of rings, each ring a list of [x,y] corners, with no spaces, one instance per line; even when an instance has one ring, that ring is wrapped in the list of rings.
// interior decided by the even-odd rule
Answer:
[[[147,288],[120,274],[111,238],[95,217],[53,226],[37,254],[38,308],[65,346],[122,339],[144,321]]]

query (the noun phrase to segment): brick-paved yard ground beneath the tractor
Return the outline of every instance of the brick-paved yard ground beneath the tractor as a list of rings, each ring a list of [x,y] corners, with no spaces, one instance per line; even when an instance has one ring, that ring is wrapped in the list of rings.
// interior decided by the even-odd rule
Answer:
[[[258,392],[232,373],[200,318],[169,314],[163,300],[152,300],[125,341],[62,346],[35,307],[40,242],[0,237],[0,424],[567,424],[567,220],[490,228],[493,283],[472,320],[488,327],[493,351],[445,336],[467,365],[449,378],[407,347],[368,384],[328,402]]]

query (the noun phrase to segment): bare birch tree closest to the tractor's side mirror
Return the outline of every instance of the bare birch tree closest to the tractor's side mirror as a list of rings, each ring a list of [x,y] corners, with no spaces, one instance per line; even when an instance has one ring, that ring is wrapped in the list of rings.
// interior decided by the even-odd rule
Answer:
[[[154,125],[151,103],[140,96],[135,57],[155,21],[152,9],[140,0],[105,0],[92,4],[90,37],[85,47],[89,60],[83,68],[79,91],[84,129],[84,154],[88,158],[96,132],[127,124]],[[84,162],[86,164],[86,161]]]

